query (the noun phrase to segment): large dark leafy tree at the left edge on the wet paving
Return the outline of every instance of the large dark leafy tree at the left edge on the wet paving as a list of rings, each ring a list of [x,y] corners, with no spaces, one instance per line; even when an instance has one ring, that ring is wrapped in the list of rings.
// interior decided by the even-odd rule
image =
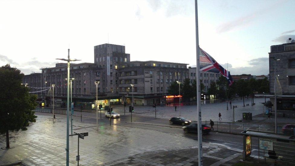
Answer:
[[[9,64],[0,68],[0,134],[6,133],[6,148],[9,146],[9,131],[27,130],[29,122],[36,122],[34,109],[36,95],[21,85],[24,74]]]

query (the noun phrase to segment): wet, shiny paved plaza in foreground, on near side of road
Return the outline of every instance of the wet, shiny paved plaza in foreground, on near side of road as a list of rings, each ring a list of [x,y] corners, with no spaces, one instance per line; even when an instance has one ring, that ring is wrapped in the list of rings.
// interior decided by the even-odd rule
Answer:
[[[0,150],[0,165],[19,161],[26,165],[66,164],[66,116],[59,115],[55,122],[51,114],[37,113],[37,116],[27,131],[10,132],[10,145],[14,148]],[[80,139],[81,165],[105,164],[153,151],[167,151],[169,154],[170,149],[195,148],[196,151],[197,145],[196,140],[177,134],[136,127],[100,124],[99,131],[96,131],[95,124],[79,122],[78,117],[74,119],[73,131],[89,132],[84,140]],[[5,135],[1,135],[0,144],[5,147]],[[218,148],[205,142],[203,147]],[[70,164],[76,164],[76,155],[77,136],[73,136],[70,137]]]

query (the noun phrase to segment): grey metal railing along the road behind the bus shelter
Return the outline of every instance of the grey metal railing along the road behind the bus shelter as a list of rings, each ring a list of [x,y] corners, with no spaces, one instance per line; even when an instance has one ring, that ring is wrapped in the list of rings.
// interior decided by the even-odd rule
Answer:
[[[204,122],[210,125],[210,121]],[[241,133],[245,130],[251,130],[255,132],[275,133],[275,127],[273,125],[251,124],[251,123],[234,123],[234,122],[214,122],[213,126],[215,131],[229,132],[229,133]],[[282,135],[295,135],[295,129],[282,129],[281,126],[277,127],[277,134]]]

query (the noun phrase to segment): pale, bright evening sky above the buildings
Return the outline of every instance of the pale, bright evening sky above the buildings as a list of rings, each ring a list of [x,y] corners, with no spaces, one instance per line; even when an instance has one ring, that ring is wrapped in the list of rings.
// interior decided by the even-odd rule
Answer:
[[[232,75],[269,73],[270,46],[295,38],[294,0],[199,0],[199,46]],[[133,60],[196,65],[192,0],[0,0],[0,66],[24,74],[56,58],[94,62],[94,46],[119,44]]]

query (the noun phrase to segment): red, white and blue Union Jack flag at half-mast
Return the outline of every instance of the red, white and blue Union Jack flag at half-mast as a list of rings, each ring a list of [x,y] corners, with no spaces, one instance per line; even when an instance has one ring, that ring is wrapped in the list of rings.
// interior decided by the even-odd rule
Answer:
[[[219,63],[216,62],[215,59],[213,59],[208,53],[206,53],[203,49],[200,48],[200,60],[202,59],[201,56],[203,55],[203,57],[208,58],[208,60],[203,61],[203,62],[207,62],[207,63],[211,63],[208,66],[202,67],[200,70],[201,71],[210,71],[210,72],[214,72],[214,73],[221,73],[222,76],[225,76],[229,86],[232,85],[232,83],[234,83],[232,76],[230,75],[229,71],[225,70]],[[200,65],[201,66],[201,65]],[[217,69],[217,70],[216,70]]]

